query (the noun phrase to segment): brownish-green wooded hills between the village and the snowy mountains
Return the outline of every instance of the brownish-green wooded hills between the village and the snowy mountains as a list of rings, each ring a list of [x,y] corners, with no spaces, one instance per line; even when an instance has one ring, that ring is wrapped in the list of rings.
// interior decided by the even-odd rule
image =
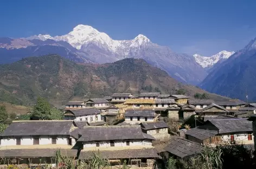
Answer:
[[[116,92],[161,92],[186,95],[205,91],[182,85],[142,59],[106,64],[76,64],[57,55],[28,57],[0,66],[0,101],[29,105],[44,96],[54,105],[76,97],[102,97]],[[223,99],[209,94],[213,99]]]

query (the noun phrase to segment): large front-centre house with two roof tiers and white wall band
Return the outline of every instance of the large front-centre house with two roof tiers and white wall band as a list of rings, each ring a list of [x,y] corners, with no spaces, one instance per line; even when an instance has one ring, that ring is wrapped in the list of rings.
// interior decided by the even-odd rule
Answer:
[[[151,167],[159,158],[152,146],[151,135],[143,133],[140,126],[85,127],[80,131],[78,142],[83,145],[79,159],[87,159],[100,151],[111,166]]]

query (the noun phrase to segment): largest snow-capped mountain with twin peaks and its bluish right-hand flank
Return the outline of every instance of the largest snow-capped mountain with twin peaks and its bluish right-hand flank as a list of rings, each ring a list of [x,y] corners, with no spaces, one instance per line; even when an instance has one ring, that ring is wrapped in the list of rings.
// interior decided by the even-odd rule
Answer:
[[[77,50],[76,54],[96,63],[115,62],[127,57],[144,59],[165,70],[176,80],[194,85],[207,75],[206,70],[196,63],[193,56],[174,53],[169,47],[158,46],[141,34],[132,40],[113,40],[104,32],[80,24],[66,35],[34,35],[26,39],[65,41]]]

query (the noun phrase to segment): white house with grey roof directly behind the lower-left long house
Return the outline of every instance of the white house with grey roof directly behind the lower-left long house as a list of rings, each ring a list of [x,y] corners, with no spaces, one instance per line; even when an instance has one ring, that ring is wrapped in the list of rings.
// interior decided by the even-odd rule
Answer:
[[[101,112],[96,108],[71,109],[64,114],[65,120],[87,121],[88,123],[104,121]]]

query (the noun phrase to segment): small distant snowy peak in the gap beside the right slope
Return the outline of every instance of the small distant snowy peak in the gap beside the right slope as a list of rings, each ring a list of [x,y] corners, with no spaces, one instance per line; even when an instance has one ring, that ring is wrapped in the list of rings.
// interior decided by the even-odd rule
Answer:
[[[198,54],[195,54],[193,56],[195,57],[196,62],[199,63],[203,68],[210,68],[217,62],[228,59],[228,57],[233,55],[234,53],[234,51],[223,50],[216,55],[210,57],[201,56]]]

